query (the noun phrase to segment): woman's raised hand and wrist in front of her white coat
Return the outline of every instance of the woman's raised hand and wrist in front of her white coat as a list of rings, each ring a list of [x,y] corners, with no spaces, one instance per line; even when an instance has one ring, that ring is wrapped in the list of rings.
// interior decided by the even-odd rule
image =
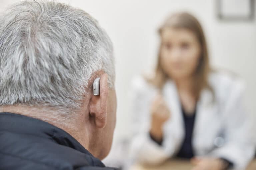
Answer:
[[[163,138],[162,126],[170,117],[170,110],[161,95],[158,95],[153,101],[151,114],[150,134],[159,142]]]

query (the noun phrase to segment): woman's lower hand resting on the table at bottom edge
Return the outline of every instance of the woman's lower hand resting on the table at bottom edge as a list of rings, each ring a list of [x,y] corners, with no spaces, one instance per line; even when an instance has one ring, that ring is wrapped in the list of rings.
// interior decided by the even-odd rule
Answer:
[[[218,158],[193,158],[191,159],[193,165],[192,170],[225,170],[228,164]]]

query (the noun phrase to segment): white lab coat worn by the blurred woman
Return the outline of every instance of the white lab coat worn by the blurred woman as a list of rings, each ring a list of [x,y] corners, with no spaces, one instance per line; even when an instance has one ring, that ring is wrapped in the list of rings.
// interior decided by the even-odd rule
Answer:
[[[214,72],[209,84],[215,93],[215,102],[209,90],[201,92],[196,106],[192,146],[196,156],[226,158],[234,163],[234,169],[245,169],[255,154],[255,127],[243,104],[244,83],[237,77]],[[171,117],[163,126],[163,143],[151,140],[151,103],[157,89],[144,78],[132,82],[133,137],[131,154],[141,163],[157,164],[179,151],[184,139],[184,122],[175,83],[169,80],[162,95],[171,111]]]

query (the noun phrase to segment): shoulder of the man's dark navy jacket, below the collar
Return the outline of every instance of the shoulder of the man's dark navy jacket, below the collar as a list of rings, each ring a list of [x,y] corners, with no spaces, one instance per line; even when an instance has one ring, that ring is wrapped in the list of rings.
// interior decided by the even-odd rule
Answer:
[[[3,170],[113,170],[100,167],[102,165],[97,167],[89,154],[45,138],[10,131],[0,132],[0,169]]]

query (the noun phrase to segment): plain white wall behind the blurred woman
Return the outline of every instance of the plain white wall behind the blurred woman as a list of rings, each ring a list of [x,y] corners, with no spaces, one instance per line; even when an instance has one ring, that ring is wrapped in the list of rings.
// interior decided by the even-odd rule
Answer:
[[[17,0],[0,0],[0,10]],[[247,103],[256,111],[256,23],[220,22],[215,0],[61,0],[95,17],[110,35],[116,56],[118,97],[115,139],[127,136],[130,115],[127,91],[131,78],[150,71],[156,59],[156,29],[175,11],[189,11],[201,21],[212,65],[227,68],[248,84]]]

